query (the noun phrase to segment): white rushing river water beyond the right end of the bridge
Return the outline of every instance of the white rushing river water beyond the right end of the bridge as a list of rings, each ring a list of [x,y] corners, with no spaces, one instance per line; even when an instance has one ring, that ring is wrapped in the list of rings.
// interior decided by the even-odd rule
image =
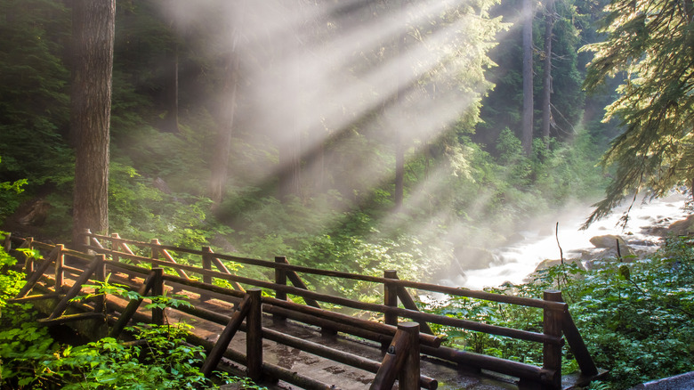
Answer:
[[[684,221],[690,211],[686,198],[674,194],[648,203],[637,201],[624,225],[620,218],[628,207],[620,207],[608,218],[581,229],[590,207],[570,207],[556,215],[529,224],[518,232],[519,239],[508,246],[488,250],[488,266],[465,269],[442,283],[471,289],[521,283],[541,264],[575,259],[590,267],[594,259],[617,257],[617,237],[624,244],[622,256],[643,257],[654,253],[668,234],[681,235],[692,230]],[[677,223],[677,224],[676,224]],[[674,225],[675,224],[675,225]],[[674,225],[674,226],[673,226]]]

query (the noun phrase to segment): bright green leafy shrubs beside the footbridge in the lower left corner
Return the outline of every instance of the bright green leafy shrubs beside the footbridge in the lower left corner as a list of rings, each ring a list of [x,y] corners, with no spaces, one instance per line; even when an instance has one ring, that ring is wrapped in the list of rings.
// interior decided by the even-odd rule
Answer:
[[[0,249],[0,261],[12,264]],[[12,258],[12,257],[10,257]],[[64,389],[161,389],[218,388],[200,372],[205,353],[202,347],[185,342],[190,325],[145,325],[126,328],[142,343],[124,343],[111,337],[86,345],[59,345],[48,328],[36,322],[29,304],[6,305],[21,287],[23,274],[3,272],[0,278],[0,388]],[[125,286],[106,282],[85,286],[93,294],[139,297]],[[148,306],[190,305],[172,297],[149,297]],[[261,389],[247,379],[218,373],[222,383],[242,382],[244,388]]]

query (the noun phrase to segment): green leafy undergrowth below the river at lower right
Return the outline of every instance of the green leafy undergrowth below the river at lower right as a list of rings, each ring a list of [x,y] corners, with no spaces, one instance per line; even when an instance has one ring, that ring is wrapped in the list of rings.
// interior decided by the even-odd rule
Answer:
[[[560,288],[596,365],[609,377],[591,388],[625,389],[680,374],[694,365],[694,241],[669,239],[650,259],[618,263],[605,259],[591,271],[560,264],[533,275],[528,283],[488,291],[542,297]],[[542,331],[538,309],[456,297],[429,305],[429,311],[514,329]],[[448,343],[477,352],[537,364],[542,346],[477,332],[439,327]],[[576,370],[569,352],[565,372]]]

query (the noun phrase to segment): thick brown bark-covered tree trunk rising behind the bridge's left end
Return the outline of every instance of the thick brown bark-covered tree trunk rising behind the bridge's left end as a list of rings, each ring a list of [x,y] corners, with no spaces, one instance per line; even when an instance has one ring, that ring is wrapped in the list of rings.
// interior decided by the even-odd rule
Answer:
[[[70,132],[76,147],[73,243],[109,228],[109,126],[116,0],[75,0]]]

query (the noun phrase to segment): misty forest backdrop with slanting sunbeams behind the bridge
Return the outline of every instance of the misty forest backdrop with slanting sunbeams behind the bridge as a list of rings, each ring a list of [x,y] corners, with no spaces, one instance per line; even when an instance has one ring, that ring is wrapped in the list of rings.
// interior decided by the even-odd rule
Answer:
[[[619,130],[597,120],[612,93],[580,88],[590,57],[577,52],[597,40],[601,4],[535,4],[533,46],[553,45],[533,51],[544,77],[529,92],[520,5],[117,2],[109,231],[309,263],[375,245],[449,264],[512,240],[529,215],[594,200],[605,185],[595,161]],[[61,239],[76,207],[74,10],[0,7],[11,37],[0,44],[0,175],[28,180],[0,216],[7,230]],[[537,111],[530,154],[524,93]],[[13,223],[37,201],[50,205],[43,224]]]

